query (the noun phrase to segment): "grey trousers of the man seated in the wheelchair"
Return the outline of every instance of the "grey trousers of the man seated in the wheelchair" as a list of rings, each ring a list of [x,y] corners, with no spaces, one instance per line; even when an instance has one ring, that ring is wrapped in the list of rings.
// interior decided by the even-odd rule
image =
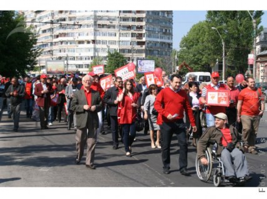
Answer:
[[[227,149],[223,149],[221,160],[225,167],[225,176],[236,176],[240,178],[249,175],[247,159],[238,148],[234,148],[231,153]]]

